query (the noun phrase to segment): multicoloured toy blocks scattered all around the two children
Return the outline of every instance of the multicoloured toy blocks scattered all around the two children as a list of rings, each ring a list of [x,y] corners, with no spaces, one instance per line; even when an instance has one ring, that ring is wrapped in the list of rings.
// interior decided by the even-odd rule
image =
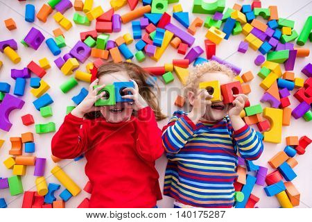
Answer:
[[[21,2],[22,3],[22,2]],[[106,2],[105,2],[106,3]],[[108,4],[108,1],[107,1]],[[173,4],[173,12],[169,12],[168,4]],[[157,76],[165,84],[175,80],[175,76],[182,85],[186,84],[189,75],[189,65],[194,66],[208,60],[216,60],[228,65],[237,74],[236,82],[220,85],[218,81],[200,83],[200,88],[213,88],[214,101],[220,100],[223,95],[225,103],[232,103],[233,93],[249,94],[251,92],[250,81],[254,78],[252,71],[244,71],[234,64],[220,59],[216,56],[216,46],[229,40],[231,35],[242,34],[243,41],[239,44],[237,51],[246,53],[248,48],[259,51],[259,55],[254,59],[254,64],[259,66],[257,76],[262,78],[260,86],[264,89],[261,96],[261,103],[268,103],[270,107],[262,108],[260,104],[250,105],[246,103],[245,109],[241,112],[245,123],[257,125],[259,136],[264,142],[281,143],[281,130],[283,126],[290,126],[291,116],[295,119],[303,118],[311,121],[312,102],[312,65],[306,64],[302,67],[302,73],[306,79],[295,77],[293,69],[296,60],[309,56],[309,48],[304,48],[306,41],[311,42],[312,16],[306,18],[306,22],[298,35],[295,31],[295,22],[278,16],[277,6],[261,6],[261,1],[252,1],[251,5],[239,5],[235,3],[232,8],[225,8],[225,0],[218,0],[206,3],[202,0],[193,1],[193,13],[207,15],[205,21],[196,17],[189,21],[189,12],[184,12],[179,0],[111,0],[111,9],[104,12],[101,6],[93,6],[92,0],[72,3],[69,0],[50,0],[42,5],[42,8],[35,9],[30,3],[25,4],[25,22],[32,23],[36,19],[45,23],[48,19],[54,19],[60,28],[53,30],[53,35],[45,40],[44,35],[37,29],[31,28],[24,38],[19,42],[23,46],[33,50],[40,50],[40,45],[44,42],[49,47],[53,56],[57,56],[53,63],[65,76],[70,76],[68,80],[60,85],[60,90],[66,94],[73,87],[79,85],[79,81],[90,83],[92,74],[96,74],[104,60],[112,58],[114,62],[126,60],[128,62],[143,62],[146,58],[158,61],[170,45],[177,53],[185,55],[184,59],[173,59],[171,63],[166,63],[159,67],[144,67],[153,77],[148,80],[148,84],[153,86],[157,81]],[[128,7],[129,10],[123,15],[119,15],[118,10]],[[96,23],[95,30],[87,30],[80,33],[80,41],[70,51],[59,56],[66,46],[66,37],[63,31],[68,31],[73,27],[71,19],[64,16],[67,10],[76,10],[73,15],[73,22],[76,25],[90,26]],[[51,15],[53,14],[53,15]],[[175,25],[173,19],[175,19]],[[263,19],[266,23],[261,22]],[[115,40],[110,39],[109,33],[120,33],[123,24],[131,22],[132,33],[123,33]],[[4,21],[9,31],[17,27],[14,18]],[[204,27],[202,27],[204,26]],[[202,40],[202,46],[193,46],[196,31],[199,28],[206,28],[207,35]],[[134,41],[135,40],[135,41]],[[295,46],[295,41],[297,46]],[[293,42],[293,43],[292,43]],[[128,45],[135,44],[136,51],[130,51]],[[225,43],[224,43],[225,44]],[[23,49],[19,49],[23,50]],[[7,56],[13,64],[18,64],[21,58],[18,54],[17,40],[3,40],[0,42],[0,51]],[[200,57],[205,52],[205,57]],[[24,58],[26,59],[26,58]],[[85,71],[78,70],[86,61]],[[12,66],[13,64],[6,64]],[[0,61],[0,68],[3,62]],[[46,58],[39,61],[31,60],[27,67],[11,69],[11,77],[15,79],[13,92],[10,93],[10,85],[5,82],[0,83],[0,128],[9,131],[12,123],[9,119],[10,112],[22,109],[25,101],[24,96],[26,85],[29,82],[31,94],[34,96],[33,105],[40,112],[42,117],[53,115],[51,103],[53,99],[49,95],[49,84],[44,81],[44,76],[49,71],[51,64]],[[284,69],[284,71],[283,71]],[[173,75],[175,73],[175,76]],[[116,87],[116,86],[115,86]],[[121,86],[119,86],[121,87]],[[113,90],[113,89],[107,89]],[[289,108],[291,91],[299,105],[293,110]],[[87,89],[82,87],[80,93],[73,96],[72,101],[78,105],[85,96]],[[96,105],[109,105],[113,98],[107,101],[101,100]],[[184,98],[177,96],[175,105],[182,108]],[[68,114],[75,106],[67,106]],[[32,114],[21,117],[25,126],[35,123]],[[19,120],[15,121],[16,123]],[[294,124],[294,123],[293,123]],[[35,133],[55,132],[55,123],[35,123]],[[0,139],[0,148],[4,141]],[[12,170],[9,178],[0,178],[0,189],[10,189],[10,194],[24,195],[22,207],[65,207],[65,203],[72,196],[77,196],[81,189],[76,185],[67,173],[56,166],[51,170],[55,178],[62,185],[60,197],[54,196],[54,192],[60,189],[60,185],[47,183],[44,178],[46,159],[35,156],[35,143],[33,133],[22,133],[21,137],[10,137],[11,149],[3,164],[7,169]],[[273,171],[268,173],[268,168],[257,166],[252,161],[245,161],[239,158],[237,167],[238,178],[235,182],[235,207],[254,207],[259,201],[257,196],[252,194],[254,186],[265,186],[264,190],[268,196],[276,196],[281,207],[294,207],[299,205],[300,193],[291,182],[297,175],[294,171],[297,161],[295,155],[303,155],[306,147],[311,143],[309,137],[296,136],[286,137],[287,146],[284,151],[277,153],[269,160]],[[24,147],[24,151],[23,151]],[[23,155],[28,154],[28,155]],[[33,154],[33,155],[29,155]],[[80,160],[83,157],[77,157]],[[60,159],[51,157],[53,162]],[[35,166],[33,175],[35,179],[36,191],[24,191],[21,177],[26,175],[27,166]],[[250,173],[248,173],[250,172]],[[29,173],[29,172],[28,172]],[[254,176],[252,176],[254,175]],[[286,180],[286,182],[284,182]],[[88,182],[84,188],[91,193],[92,186]],[[78,207],[87,207],[88,198],[85,198]],[[6,200],[0,198],[0,207],[6,207]]]

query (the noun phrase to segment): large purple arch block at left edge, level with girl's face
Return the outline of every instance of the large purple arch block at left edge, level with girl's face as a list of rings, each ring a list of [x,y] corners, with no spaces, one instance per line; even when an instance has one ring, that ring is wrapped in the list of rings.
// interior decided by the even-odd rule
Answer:
[[[24,105],[24,101],[12,96],[11,94],[6,94],[0,103],[0,129],[9,131],[12,127],[10,123],[9,115],[12,110],[21,109]]]

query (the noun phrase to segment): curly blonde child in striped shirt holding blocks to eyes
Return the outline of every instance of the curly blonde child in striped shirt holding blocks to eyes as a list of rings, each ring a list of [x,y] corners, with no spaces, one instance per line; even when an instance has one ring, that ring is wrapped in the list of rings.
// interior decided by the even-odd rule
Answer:
[[[175,199],[175,207],[232,207],[238,157],[257,160],[263,151],[262,140],[240,117],[248,97],[211,103],[212,96],[198,85],[212,80],[231,83],[234,74],[215,61],[196,66],[185,89],[191,112],[174,112],[163,129],[164,195]]]

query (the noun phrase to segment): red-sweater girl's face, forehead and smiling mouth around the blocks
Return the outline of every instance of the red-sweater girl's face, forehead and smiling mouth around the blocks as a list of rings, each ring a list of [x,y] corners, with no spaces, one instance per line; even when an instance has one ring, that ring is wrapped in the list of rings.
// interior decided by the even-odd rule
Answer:
[[[116,82],[128,82],[130,76],[125,71],[119,71],[112,74],[105,74],[98,78],[98,85],[111,85]],[[132,114],[132,105],[130,103],[116,103],[116,105],[101,106],[101,114],[107,122],[120,123],[128,121]]]

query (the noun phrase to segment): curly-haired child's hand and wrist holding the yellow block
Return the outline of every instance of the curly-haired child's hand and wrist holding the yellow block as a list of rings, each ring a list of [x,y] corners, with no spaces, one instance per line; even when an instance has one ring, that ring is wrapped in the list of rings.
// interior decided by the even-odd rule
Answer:
[[[193,123],[198,123],[200,118],[204,116],[207,105],[211,105],[211,98],[213,98],[213,96],[211,96],[206,89],[200,90],[199,94],[194,99],[193,110],[187,115]]]

